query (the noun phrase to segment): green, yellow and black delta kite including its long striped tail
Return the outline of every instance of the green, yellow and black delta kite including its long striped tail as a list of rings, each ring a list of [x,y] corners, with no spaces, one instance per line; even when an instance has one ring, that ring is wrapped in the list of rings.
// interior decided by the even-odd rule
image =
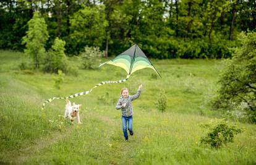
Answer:
[[[43,103],[42,109],[45,108],[46,103],[51,103],[54,99],[69,99],[69,98],[75,98],[77,96],[87,95],[88,93],[92,92],[92,90],[96,87],[99,87],[100,85],[105,85],[107,83],[122,83],[126,82],[131,74],[133,74],[135,71],[145,68],[151,68],[155,70],[155,72],[159,74],[159,72],[155,69],[153,64],[148,60],[147,56],[143,53],[142,49],[138,46],[138,44],[134,44],[132,47],[124,51],[123,53],[116,56],[114,59],[111,59],[110,61],[104,62],[99,67],[105,65],[105,64],[111,64],[114,66],[122,67],[122,69],[126,70],[127,76],[123,80],[118,81],[106,81],[106,82],[100,82],[95,87],[91,88],[88,91],[82,91],[80,93],[76,93],[74,95],[70,95],[67,97],[53,97],[45,101]],[[161,75],[160,75],[161,77]]]

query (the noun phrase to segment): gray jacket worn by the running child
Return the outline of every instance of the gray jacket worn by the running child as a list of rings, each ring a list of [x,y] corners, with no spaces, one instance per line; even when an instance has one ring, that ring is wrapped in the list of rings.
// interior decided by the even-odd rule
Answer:
[[[141,90],[138,90],[137,93],[135,95],[129,95],[127,96],[127,98],[124,98],[123,96],[121,96],[118,100],[118,103],[116,104],[116,109],[121,109],[122,111],[122,116],[132,116],[134,114],[134,112],[132,111],[132,101],[134,99],[139,98],[141,93]],[[122,104],[126,103],[126,106],[124,108],[122,108]]]

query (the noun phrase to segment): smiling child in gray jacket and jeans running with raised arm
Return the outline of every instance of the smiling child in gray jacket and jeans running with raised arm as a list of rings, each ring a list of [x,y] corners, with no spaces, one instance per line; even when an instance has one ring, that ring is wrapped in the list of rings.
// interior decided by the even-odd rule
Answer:
[[[118,103],[116,104],[116,109],[121,109],[122,112],[122,132],[124,132],[124,138],[126,139],[126,142],[128,141],[128,134],[126,129],[127,122],[130,135],[134,135],[134,132],[132,131],[132,115],[134,114],[132,111],[132,101],[139,98],[141,90],[142,85],[140,85],[135,95],[130,96],[128,88],[122,88],[122,96],[119,98]]]

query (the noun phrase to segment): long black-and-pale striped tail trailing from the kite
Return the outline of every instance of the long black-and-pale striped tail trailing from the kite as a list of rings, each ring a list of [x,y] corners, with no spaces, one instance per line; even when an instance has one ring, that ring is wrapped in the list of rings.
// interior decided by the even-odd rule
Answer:
[[[60,97],[60,98],[58,98],[58,97],[50,98],[50,99],[46,100],[45,103],[43,103],[42,110],[45,108],[45,104],[46,103],[51,103],[51,101],[53,101],[54,99],[69,99],[69,98],[75,98],[77,96],[87,95],[88,93],[92,92],[92,90],[94,88],[97,88],[97,87],[99,87],[101,85],[105,85],[107,83],[122,83],[122,82],[126,82],[129,77],[130,77],[130,75],[127,75],[126,78],[123,79],[123,80],[100,82],[100,83],[98,83],[97,85],[95,85],[93,88],[91,88],[88,91],[82,91],[80,93],[75,93],[74,95],[70,95],[70,96],[67,96],[67,97],[64,97],[64,98],[63,97]]]

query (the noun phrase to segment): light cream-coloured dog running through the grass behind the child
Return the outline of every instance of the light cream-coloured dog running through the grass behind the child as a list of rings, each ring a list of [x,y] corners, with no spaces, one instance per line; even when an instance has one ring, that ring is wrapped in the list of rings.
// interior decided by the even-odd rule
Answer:
[[[82,124],[82,122],[80,122],[80,116],[79,116],[80,106],[82,105],[75,104],[75,103],[71,104],[71,101],[69,101],[69,99],[66,99],[66,108],[65,108],[64,116],[66,119],[67,117],[69,117],[72,124],[74,124],[75,117],[77,117],[77,123]]]

